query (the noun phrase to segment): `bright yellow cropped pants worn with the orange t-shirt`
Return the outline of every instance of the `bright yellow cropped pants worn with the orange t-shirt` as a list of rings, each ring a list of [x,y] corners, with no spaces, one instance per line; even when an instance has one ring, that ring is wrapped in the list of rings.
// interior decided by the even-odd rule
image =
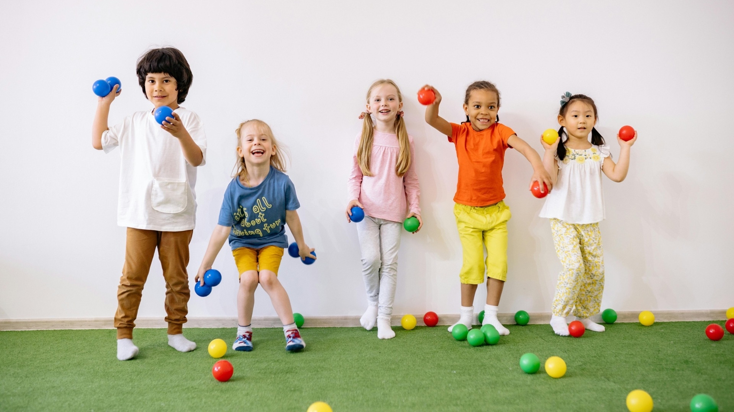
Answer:
[[[464,284],[484,283],[487,276],[507,280],[507,221],[512,216],[504,202],[492,206],[454,205],[461,240],[463,263],[459,279]],[[484,247],[487,259],[484,259]]]

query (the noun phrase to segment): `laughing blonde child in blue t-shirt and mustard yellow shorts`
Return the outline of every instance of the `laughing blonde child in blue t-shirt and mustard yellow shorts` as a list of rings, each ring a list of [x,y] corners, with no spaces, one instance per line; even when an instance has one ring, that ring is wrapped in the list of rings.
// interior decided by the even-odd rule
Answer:
[[[229,238],[237,269],[237,338],[234,350],[252,350],[252,307],[255,289],[260,284],[270,296],[275,312],[283,322],[286,350],[303,349],[306,344],[293,319],[291,300],[277,279],[277,270],[288,247],[285,225],[291,229],[301,259],[310,257],[303,240],[301,221],[296,209],[296,188],[285,172],[285,156],[270,127],[261,120],[247,120],[237,133],[237,174],[225,192],[219,222],[209,239],[209,246],[196,275],[202,282],[219,250]]]

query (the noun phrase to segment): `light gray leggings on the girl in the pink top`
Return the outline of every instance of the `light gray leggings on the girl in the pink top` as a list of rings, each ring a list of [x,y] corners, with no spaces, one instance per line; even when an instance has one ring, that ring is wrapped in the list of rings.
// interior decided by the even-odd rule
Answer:
[[[393,314],[401,229],[399,222],[371,216],[357,223],[367,304],[377,306],[382,317]]]

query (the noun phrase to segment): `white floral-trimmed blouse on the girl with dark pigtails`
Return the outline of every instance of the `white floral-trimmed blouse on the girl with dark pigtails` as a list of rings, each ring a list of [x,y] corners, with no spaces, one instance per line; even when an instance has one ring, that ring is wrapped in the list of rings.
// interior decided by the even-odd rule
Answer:
[[[603,221],[604,193],[601,166],[610,155],[609,147],[592,145],[586,150],[566,148],[566,157],[558,163],[558,179],[545,198],[541,218],[556,218],[567,223],[589,224]]]

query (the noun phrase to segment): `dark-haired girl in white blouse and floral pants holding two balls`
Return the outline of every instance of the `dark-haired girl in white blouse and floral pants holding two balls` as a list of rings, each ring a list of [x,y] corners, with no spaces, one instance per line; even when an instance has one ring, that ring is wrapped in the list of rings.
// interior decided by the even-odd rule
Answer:
[[[543,165],[551,174],[553,190],[548,193],[540,217],[551,219],[553,243],[563,265],[553,298],[553,331],[568,336],[566,317],[575,316],[590,331],[604,326],[589,320],[599,313],[604,290],[604,254],[599,222],[604,216],[601,174],[614,182],[627,177],[630,141],[619,139],[619,163],[611,160],[609,147],[594,128],[597,108],[592,98],[566,93],[558,114],[559,139],[547,144]],[[591,141],[589,141],[591,135]]]

